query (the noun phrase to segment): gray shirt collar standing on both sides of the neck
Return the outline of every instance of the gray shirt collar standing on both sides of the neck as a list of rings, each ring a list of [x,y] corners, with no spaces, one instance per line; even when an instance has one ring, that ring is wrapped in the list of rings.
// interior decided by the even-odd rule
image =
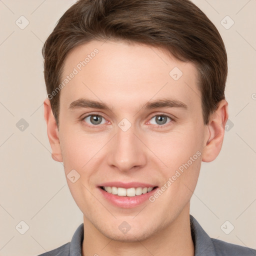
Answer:
[[[194,243],[194,256],[216,256],[211,238],[192,215],[190,215],[190,229]],[[83,223],[77,227],[70,241],[69,256],[81,256],[82,241]]]

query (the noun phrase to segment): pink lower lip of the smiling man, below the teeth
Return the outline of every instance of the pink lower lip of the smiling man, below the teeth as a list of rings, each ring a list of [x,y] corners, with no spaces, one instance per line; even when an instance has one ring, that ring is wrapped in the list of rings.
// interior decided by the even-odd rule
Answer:
[[[116,194],[108,193],[105,190],[101,189],[100,187],[98,187],[98,189],[103,195],[103,197],[107,199],[109,202],[111,202],[112,204],[114,204],[115,206],[122,207],[122,208],[132,208],[146,201],[150,197],[150,195],[155,193],[157,187],[151,190],[150,192],[147,192],[141,195],[135,195],[135,196],[119,196]]]

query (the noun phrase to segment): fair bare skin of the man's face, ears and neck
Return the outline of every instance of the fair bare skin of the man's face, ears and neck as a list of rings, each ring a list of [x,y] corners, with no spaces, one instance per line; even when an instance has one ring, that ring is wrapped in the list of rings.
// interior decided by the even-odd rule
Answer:
[[[204,125],[196,67],[160,48],[124,41],[91,41],[74,48],[64,61],[62,77],[94,48],[98,54],[61,89],[59,127],[49,100],[44,101],[52,158],[63,161],[65,175],[72,169],[80,175],[74,183],[66,180],[83,213],[82,255],[192,256],[189,200],[201,161],[214,160],[221,149],[227,102],[221,100]],[[183,73],[176,81],[169,75],[173,67]],[[80,98],[104,102],[111,110],[69,108]],[[141,109],[163,98],[187,108]],[[92,123],[90,116],[82,119],[95,113],[103,116],[100,124]],[[162,114],[172,119],[157,126],[155,115]],[[131,123],[125,132],[118,127],[123,118]],[[200,156],[154,202],[121,208],[106,201],[97,188],[108,181],[161,187],[197,151]],[[131,227],[125,234],[118,229],[123,221]]]

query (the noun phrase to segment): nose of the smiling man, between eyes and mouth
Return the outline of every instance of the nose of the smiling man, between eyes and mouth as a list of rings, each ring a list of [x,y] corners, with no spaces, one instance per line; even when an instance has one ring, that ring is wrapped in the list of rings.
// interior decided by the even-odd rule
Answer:
[[[126,131],[117,126],[116,135],[108,145],[107,163],[110,167],[127,172],[145,166],[146,146],[136,133],[133,125]]]

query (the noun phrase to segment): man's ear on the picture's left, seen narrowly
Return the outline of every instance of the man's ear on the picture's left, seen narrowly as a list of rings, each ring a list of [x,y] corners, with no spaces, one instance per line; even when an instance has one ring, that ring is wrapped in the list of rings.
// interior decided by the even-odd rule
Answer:
[[[47,124],[47,135],[51,147],[51,157],[55,161],[62,162],[62,154],[60,150],[59,138],[58,138],[58,127],[56,124],[55,117],[52,113],[50,101],[46,98],[43,101],[44,107],[44,120]]]

